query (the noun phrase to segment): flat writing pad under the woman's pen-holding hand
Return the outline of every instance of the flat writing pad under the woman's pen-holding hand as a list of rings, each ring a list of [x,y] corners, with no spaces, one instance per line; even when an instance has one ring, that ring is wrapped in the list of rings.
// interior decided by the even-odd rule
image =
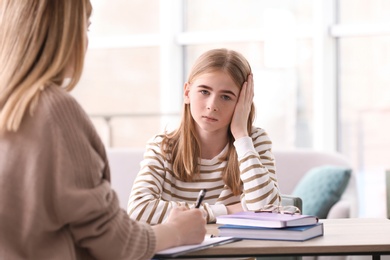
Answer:
[[[153,259],[164,259],[169,257],[177,257],[189,252],[198,251],[201,249],[206,249],[213,246],[224,245],[227,243],[235,242],[241,240],[240,238],[234,237],[206,237],[200,244],[195,245],[186,245],[186,246],[178,246],[172,247],[169,249],[162,250],[157,252],[157,254],[153,257]]]

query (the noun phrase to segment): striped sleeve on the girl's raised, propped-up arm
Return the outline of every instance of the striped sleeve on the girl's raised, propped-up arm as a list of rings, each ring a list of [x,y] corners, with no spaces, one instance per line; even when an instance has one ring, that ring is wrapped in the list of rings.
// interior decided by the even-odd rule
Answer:
[[[251,137],[237,139],[234,146],[243,182],[243,208],[254,211],[267,204],[279,204],[272,142],[266,132],[261,128],[254,128]]]

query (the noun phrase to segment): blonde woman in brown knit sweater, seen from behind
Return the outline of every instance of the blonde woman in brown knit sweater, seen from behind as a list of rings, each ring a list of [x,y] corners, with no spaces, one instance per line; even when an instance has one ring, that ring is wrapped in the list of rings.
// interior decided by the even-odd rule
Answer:
[[[119,207],[104,146],[67,93],[91,12],[89,0],[0,1],[1,259],[149,259],[204,239],[200,210],[151,227]]]

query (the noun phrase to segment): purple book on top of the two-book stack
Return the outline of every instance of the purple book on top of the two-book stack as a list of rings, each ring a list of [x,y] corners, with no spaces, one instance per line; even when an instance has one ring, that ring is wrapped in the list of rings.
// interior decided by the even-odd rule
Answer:
[[[318,223],[318,218],[311,215],[290,215],[281,213],[243,211],[235,214],[218,216],[216,218],[216,223],[283,228],[313,225]]]

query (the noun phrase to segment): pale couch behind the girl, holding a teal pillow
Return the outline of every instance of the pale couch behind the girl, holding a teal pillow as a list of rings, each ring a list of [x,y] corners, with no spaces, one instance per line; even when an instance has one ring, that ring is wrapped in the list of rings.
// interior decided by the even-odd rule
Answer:
[[[127,208],[134,179],[143,159],[142,148],[108,148],[107,156],[111,168],[111,182],[117,192],[120,205]],[[275,163],[280,191],[283,196],[282,204],[296,203],[293,194],[304,175],[311,169],[320,166],[334,165],[350,168],[349,162],[338,153],[320,152],[306,149],[275,150]],[[292,196],[290,196],[292,195]],[[335,203],[327,218],[348,218],[357,216],[357,192],[355,177],[351,178],[340,200]],[[290,200],[292,199],[293,202]],[[299,201],[298,201],[299,204]],[[303,200],[303,205],[305,201]],[[305,212],[303,212],[305,214]]]

